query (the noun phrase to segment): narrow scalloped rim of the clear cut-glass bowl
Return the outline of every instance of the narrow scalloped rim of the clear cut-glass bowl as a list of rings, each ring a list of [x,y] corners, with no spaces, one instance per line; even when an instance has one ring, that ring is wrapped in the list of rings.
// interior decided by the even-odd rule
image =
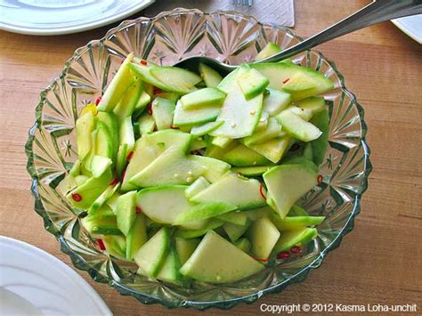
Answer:
[[[356,192],[356,196],[355,196],[354,201],[353,201],[353,210],[350,213],[350,215],[348,216],[345,225],[343,226],[341,231],[337,234],[337,237],[329,244],[328,247],[325,247],[321,251],[321,253],[312,261],[312,263],[309,263],[302,270],[298,271],[295,275],[291,276],[287,280],[283,280],[280,283],[277,283],[277,284],[272,285],[270,287],[256,291],[255,293],[250,294],[248,296],[239,296],[239,297],[232,298],[232,299],[223,299],[223,300],[215,300],[215,301],[195,302],[195,301],[184,300],[184,301],[178,301],[177,304],[174,304],[174,302],[166,300],[165,298],[158,297],[158,296],[150,296],[148,294],[141,293],[137,290],[134,290],[132,288],[127,287],[124,284],[117,282],[116,280],[111,280],[109,277],[104,277],[103,275],[101,275],[101,273],[99,273],[98,271],[93,269],[93,267],[89,263],[86,263],[85,260],[80,255],[75,253],[68,246],[67,241],[66,241],[66,239],[64,239],[61,232],[57,231],[53,227],[53,222],[49,218],[49,215],[47,214],[47,212],[45,211],[45,208],[44,208],[43,203],[41,201],[41,197],[38,193],[38,179],[37,179],[37,173],[36,173],[35,165],[34,165],[34,158],[33,158],[34,153],[33,153],[33,150],[32,150],[32,145],[33,145],[33,142],[34,142],[34,139],[35,139],[35,133],[37,131],[37,128],[38,128],[38,126],[40,126],[41,113],[42,113],[42,109],[43,109],[43,98],[44,98],[45,94],[53,88],[53,86],[55,85],[55,83],[59,79],[61,79],[62,77],[65,76],[67,70],[69,69],[69,65],[71,64],[71,62],[76,60],[81,55],[81,53],[84,53],[85,49],[89,48],[90,45],[104,41],[106,38],[110,37],[110,35],[118,32],[121,28],[126,28],[126,26],[129,25],[129,24],[138,23],[141,20],[143,20],[143,21],[158,20],[159,18],[166,16],[166,15],[169,15],[169,14],[183,13],[183,12],[184,13],[195,12],[195,13],[206,14],[206,15],[211,15],[211,14],[238,15],[242,18],[247,19],[247,20],[254,21],[256,24],[260,25],[261,27],[280,28],[283,31],[285,31],[289,36],[293,36],[293,37],[296,37],[299,40],[302,40],[302,38],[300,36],[296,36],[291,31],[290,28],[282,27],[282,26],[279,26],[279,25],[276,25],[276,24],[271,24],[271,23],[261,23],[258,20],[256,20],[256,18],[253,17],[253,16],[245,15],[245,14],[242,14],[242,13],[239,13],[239,12],[232,12],[232,11],[202,12],[198,9],[176,8],[172,11],[160,12],[160,13],[158,13],[158,15],[156,15],[155,17],[152,17],[152,18],[139,17],[139,18],[136,18],[134,20],[124,20],[124,21],[122,21],[117,27],[110,28],[110,30],[107,31],[105,36],[101,37],[101,39],[92,40],[87,45],[77,48],[75,50],[75,52],[73,53],[73,55],[69,58],[69,60],[65,62],[64,68],[61,71],[61,74],[58,77],[54,77],[51,84],[48,85],[40,93],[40,101],[38,102],[37,108],[36,108],[36,122],[35,122],[34,126],[32,126],[29,129],[29,131],[28,131],[28,141],[25,144],[25,152],[26,152],[27,157],[28,157],[27,170],[28,170],[28,174],[30,174],[30,176],[32,178],[30,190],[31,190],[31,192],[32,192],[32,194],[35,198],[35,211],[37,212],[38,215],[40,215],[43,218],[45,230],[52,233],[54,235],[54,237],[56,239],[58,239],[58,241],[60,243],[61,251],[65,254],[69,255],[69,258],[70,258],[71,262],[73,263],[73,265],[81,271],[88,272],[88,274],[91,276],[91,278],[93,280],[95,280],[99,283],[107,283],[107,284],[110,285],[110,287],[116,288],[121,295],[123,295],[123,296],[134,296],[136,299],[138,299],[143,304],[162,304],[162,305],[166,306],[167,308],[192,307],[192,308],[195,308],[195,309],[198,309],[198,310],[206,310],[208,308],[215,307],[215,308],[220,308],[220,309],[223,309],[223,310],[228,310],[228,309],[231,309],[232,307],[234,307],[235,305],[237,305],[239,303],[252,304],[258,298],[260,298],[260,297],[262,297],[266,294],[280,293],[284,288],[288,287],[288,285],[290,285],[292,283],[298,283],[298,282],[303,281],[307,277],[307,275],[310,271],[320,267],[323,259],[325,258],[325,256],[327,256],[329,254],[329,252],[333,251],[334,249],[336,249],[337,247],[340,246],[340,243],[341,243],[342,239],[344,238],[344,236],[348,232],[353,231],[354,219],[355,219],[356,215],[358,215],[361,212],[361,196],[368,189],[368,178],[369,178],[370,172],[372,171],[372,165],[371,165],[370,160],[369,160],[370,149],[369,149],[369,145],[366,142],[366,134],[367,134],[368,127],[367,127],[367,124],[365,123],[365,120],[364,120],[364,110],[363,110],[361,104],[356,100],[355,95],[345,87],[345,78],[338,71],[337,66],[334,63],[334,61],[329,60],[322,53],[315,51],[315,50],[312,50],[312,52],[318,53],[321,57],[323,57],[323,59],[329,63],[330,67],[332,67],[333,71],[337,74],[337,77],[338,77],[338,79],[341,83],[342,91],[345,92],[346,94],[348,94],[348,96],[351,98],[351,100],[355,103],[356,109],[358,110],[359,116],[361,117],[361,146],[362,146],[362,149],[364,151],[365,170],[364,170],[364,175],[363,175],[361,185],[359,187],[360,190],[358,190],[358,192]]]

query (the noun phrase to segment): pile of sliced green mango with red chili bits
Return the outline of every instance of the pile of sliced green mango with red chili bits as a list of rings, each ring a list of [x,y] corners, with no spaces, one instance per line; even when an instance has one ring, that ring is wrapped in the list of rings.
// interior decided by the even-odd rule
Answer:
[[[296,203],[323,181],[318,95],[332,82],[292,61],[198,71],[129,54],[79,114],[78,160],[58,187],[101,251],[176,285],[241,280],[300,255],[324,220]]]

